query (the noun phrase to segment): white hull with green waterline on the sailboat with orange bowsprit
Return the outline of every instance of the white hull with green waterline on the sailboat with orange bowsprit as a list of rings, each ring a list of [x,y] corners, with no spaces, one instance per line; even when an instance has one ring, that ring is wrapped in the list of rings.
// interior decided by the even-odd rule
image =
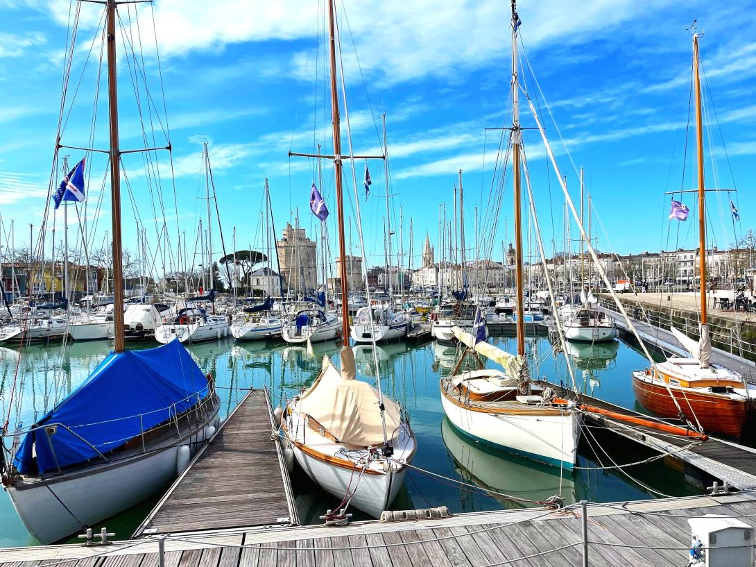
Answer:
[[[522,457],[572,469],[578,455],[582,414],[507,415],[471,411],[441,396],[449,421],[477,442]]]

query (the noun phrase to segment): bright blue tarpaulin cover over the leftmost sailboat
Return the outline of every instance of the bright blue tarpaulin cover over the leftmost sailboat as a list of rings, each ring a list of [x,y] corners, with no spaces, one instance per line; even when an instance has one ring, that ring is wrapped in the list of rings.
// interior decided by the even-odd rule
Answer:
[[[178,340],[156,349],[112,352],[26,433],[14,466],[45,474],[97,457],[98,451],[107,454],[208,393],[206,376]]]

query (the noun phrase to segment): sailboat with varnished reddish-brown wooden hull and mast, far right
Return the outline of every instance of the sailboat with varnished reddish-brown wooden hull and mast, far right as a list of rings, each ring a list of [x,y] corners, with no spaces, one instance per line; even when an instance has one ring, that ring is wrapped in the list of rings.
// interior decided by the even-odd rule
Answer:
[[[693,33],[693,87],[696,98],[696,156],[699,197],[699,257],[701,277],[701,324],[699,341],[672,327],[674,336],[690,358],[671,357],[632,373],[637,401],[661,417],[682,417],[710,433],[739,437],[748,411],[756,400],[756,386],[729,368],[711,362],[707,314],[706,277],[706,190],[701,78],[699,76],[699,33]]]

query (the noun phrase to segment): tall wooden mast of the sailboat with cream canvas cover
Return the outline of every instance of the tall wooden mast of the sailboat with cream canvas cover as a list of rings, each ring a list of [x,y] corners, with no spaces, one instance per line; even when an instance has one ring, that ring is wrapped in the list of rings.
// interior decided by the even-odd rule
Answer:
[[[349,286],[346,280],[344,240],[344,196],[342,193],[341,129],[339,126],[339,91],[336,85],[336,32],[333,24],[333,0],[328,0],[328,48],[330,51],[331,122],[333,122],[333,173],[336,176],[336,217],[339,219],[339,277],[341,277],[342,345],[349,346]]]

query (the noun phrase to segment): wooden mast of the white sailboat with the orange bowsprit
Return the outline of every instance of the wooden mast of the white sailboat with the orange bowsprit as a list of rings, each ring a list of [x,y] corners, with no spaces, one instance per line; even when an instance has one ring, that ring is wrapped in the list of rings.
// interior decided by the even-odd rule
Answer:
[[[516,280],[516,330],[517,355],[525,356],[525,309],[522,293],[522,218],[520,218],[520,144],[522,133],[519,126],[519,84],[517,78],[517,16],[516,0],[512,0],[512,165],[515,218],[515,280]]]

